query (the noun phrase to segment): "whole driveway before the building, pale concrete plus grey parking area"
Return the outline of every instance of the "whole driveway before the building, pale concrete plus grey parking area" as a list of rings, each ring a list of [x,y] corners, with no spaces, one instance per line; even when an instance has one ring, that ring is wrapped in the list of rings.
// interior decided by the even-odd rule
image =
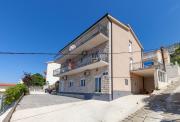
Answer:
[[[129,95],[111,102],[64,96],[25,96],[11,122],[118,122],[143,106],[145,95]]]

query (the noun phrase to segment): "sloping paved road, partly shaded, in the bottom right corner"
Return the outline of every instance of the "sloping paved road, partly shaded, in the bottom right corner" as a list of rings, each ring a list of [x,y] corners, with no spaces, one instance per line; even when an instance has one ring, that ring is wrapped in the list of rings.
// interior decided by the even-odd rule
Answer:
[[[180,122],[180,81],[123,122]]]

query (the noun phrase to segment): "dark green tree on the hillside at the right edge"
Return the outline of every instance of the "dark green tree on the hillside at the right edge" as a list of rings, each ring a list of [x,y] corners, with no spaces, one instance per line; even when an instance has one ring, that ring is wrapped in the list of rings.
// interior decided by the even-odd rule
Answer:
[[[177,62],[180,65],[180,47],[178,47],[173,54],[171,54],[171,62]]]

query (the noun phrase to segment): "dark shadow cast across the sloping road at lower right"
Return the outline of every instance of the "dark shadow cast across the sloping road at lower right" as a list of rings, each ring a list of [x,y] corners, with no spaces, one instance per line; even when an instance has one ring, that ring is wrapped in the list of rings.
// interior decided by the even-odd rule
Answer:
[[[180,122],[180,93],[172,95],[170,93],[161,93],[154,97],[145,98],[144,101],[148,102],[145,109],[162,112],[164,116],[170,116],[170,120],[164,119],[162,122]],[[178,119],[172,118],[172,116],[176,116]]]

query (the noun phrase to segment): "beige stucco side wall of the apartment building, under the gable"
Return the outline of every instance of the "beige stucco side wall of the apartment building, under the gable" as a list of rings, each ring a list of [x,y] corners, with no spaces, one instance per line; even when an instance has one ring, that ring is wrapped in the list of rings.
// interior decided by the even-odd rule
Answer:
[[[132,43],[132,52],[129,52],[128,45]],[[142,47],[139,45],[129,28],[122,28],[116,23],[112,23],[112,74],[113,74],[113,91],[114,94],[119,92],[137,92],[135,90],[137,84],[141,84],[141,80],[132,77],[130,73],[130,60],[133,62],[141,62]],[[128,84],[125,84],[128,80]],[[139,86],[140,87],[140,86]]]

